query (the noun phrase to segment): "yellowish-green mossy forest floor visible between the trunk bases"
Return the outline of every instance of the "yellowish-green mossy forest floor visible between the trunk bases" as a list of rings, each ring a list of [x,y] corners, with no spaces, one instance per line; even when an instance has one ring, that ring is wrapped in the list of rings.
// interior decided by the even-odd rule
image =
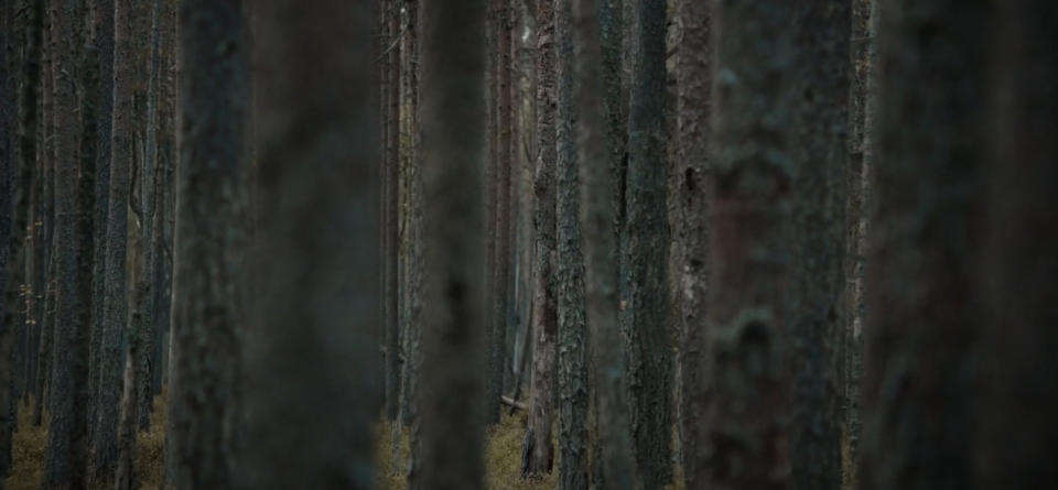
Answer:
[[[44,478],[44,465],[47,460],[47,426],[34,427],[31,423],[32,405],[19,405],[18,431],[14,433],[11,475],[4,480],[3,488],[9,490],[36,490]],[[44,417],[45,420],[47,417]],[[501,490],[550,490],[558,487],[558,454],[555,468],[551,475],[537,479],[521,478],[521,448],[525,437],[525,420],[521,414],[505,414],[500,423],[487,432],[485,453],[486,488]],[[408,488],[406,473],[408,464],[408,432],[397,434],[400,444],[393,453],[392,425],[381,423],[377,427],[376,446],[376,490],[403,490]],[[155,490],[162,481],[165,457],[165,404],[161,398],[154,400],[151,414],[151,427],[140,432],[137,437],[136,468],[139,471],[143,490]],[[679,468],[677,468],[679,481]],[[112,484],[99,482],[93,489],[110,489]],[[680,490],[673,487],[671,490]]]

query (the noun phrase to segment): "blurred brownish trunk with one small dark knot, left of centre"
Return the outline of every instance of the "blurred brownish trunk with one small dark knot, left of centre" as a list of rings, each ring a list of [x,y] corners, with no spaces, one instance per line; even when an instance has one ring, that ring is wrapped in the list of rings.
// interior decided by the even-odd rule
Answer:
[[[483,488],[485,2],[423,2],[427,283],[414,489]],[[458,188],[461,192],[453,193]]]

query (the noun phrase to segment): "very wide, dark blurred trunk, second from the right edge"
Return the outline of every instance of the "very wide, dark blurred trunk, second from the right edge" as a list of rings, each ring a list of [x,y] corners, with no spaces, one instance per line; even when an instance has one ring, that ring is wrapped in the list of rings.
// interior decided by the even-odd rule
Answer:
[[[971,351],[982,319],[973,279],[991,44],[982,33],[994,4],[896,0],[882,11],[866,490],[972,487]]]

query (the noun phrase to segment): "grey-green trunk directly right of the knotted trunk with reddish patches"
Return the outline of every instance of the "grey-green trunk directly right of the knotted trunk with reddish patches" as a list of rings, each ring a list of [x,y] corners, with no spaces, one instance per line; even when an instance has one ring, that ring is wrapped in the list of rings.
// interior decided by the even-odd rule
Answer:
[[[849,43],[852,4],[808,2],[795,13],[799,94],[798,122],[788,128],[797,143],[792,181],[795,286],[790,352],[792,391],[790,451],[796,488],[838,488],[841,432],[838,357],[842,318],[842,259],[845,252],[845,164],[849,129]],[[785,100],[784,100],[785,101]]]

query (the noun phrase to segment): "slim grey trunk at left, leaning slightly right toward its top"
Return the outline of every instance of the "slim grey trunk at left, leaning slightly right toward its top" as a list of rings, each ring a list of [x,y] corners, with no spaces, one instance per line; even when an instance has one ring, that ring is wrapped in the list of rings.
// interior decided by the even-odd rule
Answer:
[[[127,345],[127,251],[131,173],[136,165],[136,19],[132,0],[114,2],[114,107],[110,140],[110,192],[107,216],[106,297],[99,353],[98,426],[95,429],[95,473],[112,481],[118,457],[118,407]]]

